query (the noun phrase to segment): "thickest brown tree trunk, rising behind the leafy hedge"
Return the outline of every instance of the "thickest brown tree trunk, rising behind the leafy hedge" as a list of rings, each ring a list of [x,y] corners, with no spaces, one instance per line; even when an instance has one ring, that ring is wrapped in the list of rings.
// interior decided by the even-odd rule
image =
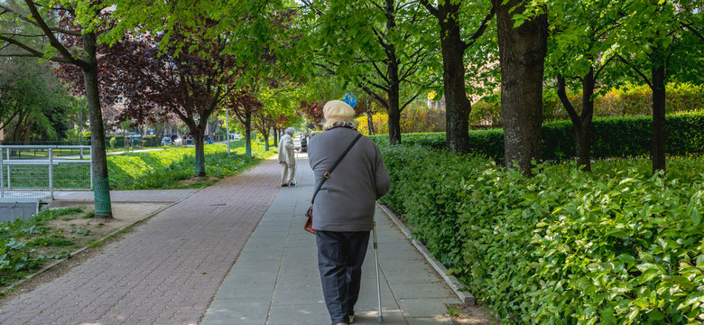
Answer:
[[[541,14],[514,28],[514,14],[523,14],[525,10],[522,1],[493,2],[501,61],[505,166],[513,168],[516,163],[523,175],[532,176],[532,161],[542,159],[542,77],[547,52],[547,15]]]

